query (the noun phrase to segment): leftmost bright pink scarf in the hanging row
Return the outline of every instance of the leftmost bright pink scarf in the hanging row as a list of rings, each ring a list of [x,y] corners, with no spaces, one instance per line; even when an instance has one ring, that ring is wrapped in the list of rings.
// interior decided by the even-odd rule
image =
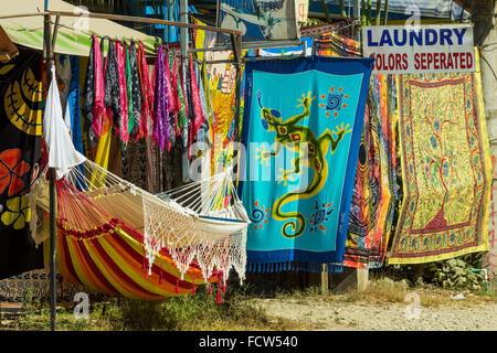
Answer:
[[[95,99],[93,106],[93,131],[97,138],[101,138],[102,128],[105,119],[105,84],[104,84],[104,67],[101,52],[101,45],[95,34],[93,36],[93,50],[95,56]]]

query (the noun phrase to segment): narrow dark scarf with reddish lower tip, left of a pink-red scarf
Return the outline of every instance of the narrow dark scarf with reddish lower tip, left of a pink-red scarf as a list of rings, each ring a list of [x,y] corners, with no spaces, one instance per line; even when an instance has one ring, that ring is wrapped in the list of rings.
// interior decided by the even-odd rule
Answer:
[[[130,138],[137,142],[139,139],[139,132],[141,127],[141,93],[140,93],[140,75],[138,71],[138,53],[136,50],[135,42],[131,42],[128,52],[129,57],[129,81],[131,83],[130,95],[131,105],[130,111],[133,110],[133,129],[130,130]]]

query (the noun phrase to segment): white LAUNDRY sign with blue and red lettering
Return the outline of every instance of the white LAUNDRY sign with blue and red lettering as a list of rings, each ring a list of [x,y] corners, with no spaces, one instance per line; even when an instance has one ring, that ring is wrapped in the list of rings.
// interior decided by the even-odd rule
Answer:
[[[470,24],[364,26],[362,49],[376,74],[475,71]]]

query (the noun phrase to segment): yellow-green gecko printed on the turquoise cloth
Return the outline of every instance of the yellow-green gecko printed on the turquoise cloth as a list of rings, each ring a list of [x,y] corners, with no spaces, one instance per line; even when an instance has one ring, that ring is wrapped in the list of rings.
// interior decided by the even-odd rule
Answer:
[[[281,175],[277,175],[278,184],[283,181],[286,185],[287,180],[294,181],[293,174],[300,174],[302,167],[311,168],[314,170],[313,180],[309,185],[304,189],[299,189],[294,192],[288,192],[282,195],[272,207],[272,215],[277,221],[287,221],[282,227],[283,236],[287,238],[296,238],[304,234],[306,229],[306,221],[300,212],[283,212],[282,207],[295,200],[310,199],[315,196],[326,183],[328,178],[328,163],[326,161],[326,154],[328,148],[331,147],[331,153],[338,148],[338,143],[343,136],[350,131],[349,125],[343,127],[336,127],[335,131],[326,129],[319,138],[316,138],[311,129],[305,126],[297,125],[300,120],[304,120],[310,116],[310,103],[316,98],[311,97],[310,92],[303,94],[302,99],[297,99],[300,104],[298,107],[304,107],[304,111],[299,115],[293,116],[283,121],[282,115],[276,109],[264,108],[261,103],[261,92],[257,92],[258,105],[261,107],[262,125],[267,131],[275,131],[275,148],[274,151],[266,151],[263,147],[257,149],[260,154],[256,159],[261,159],[260,163],[264,161],[268,165],[269,158],[276,157],[282,151],[283,147],[290,149],[297,153],[292,160],[293,170],[283,170]],[[336,138],[334,138],[334,133]],[[306,143],[308,153],[300,153],[299,143]],[[297,224],[298,222],[298,224]],[[289,227],[289,233],[287,228]]]

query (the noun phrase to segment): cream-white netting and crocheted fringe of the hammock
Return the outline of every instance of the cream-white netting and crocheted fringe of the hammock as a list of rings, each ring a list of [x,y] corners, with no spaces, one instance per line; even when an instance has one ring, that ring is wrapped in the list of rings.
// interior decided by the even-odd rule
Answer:
[[[226,281],[232,267],[244,279],[250,220],[233,185],[232,170],[157,195],[89,160],[72,168],[65,180],[67,188],[57,189],[56,197],[63,202],[56,206],[56,218],[64,227],[95,229],[112,216],[144,235],[149,271],[156,255],[167,247],[181,279],[192,261],[199,264],[205,280],[216,269]],[[47,218],[47,180],[40,178],[30,195],[38,208],[31,222],[36,244],[47,237],[47,222],[40,222]]]

